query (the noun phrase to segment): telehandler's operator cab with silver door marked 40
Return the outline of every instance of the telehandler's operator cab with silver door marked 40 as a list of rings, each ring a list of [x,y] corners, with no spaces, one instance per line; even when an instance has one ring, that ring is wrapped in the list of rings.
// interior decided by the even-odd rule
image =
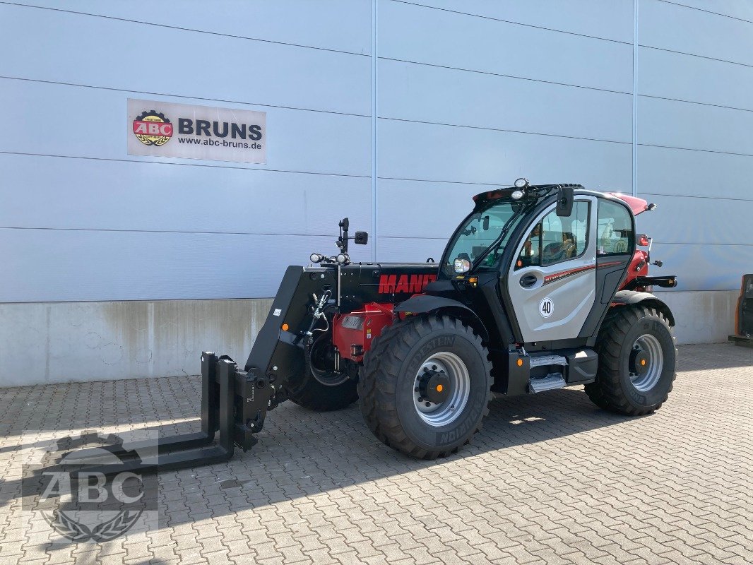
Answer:
[[[631,200],[526,179],[477,194],[427,291],[467,304],[503,347],[591,346],[636,252],[645,201]]]

